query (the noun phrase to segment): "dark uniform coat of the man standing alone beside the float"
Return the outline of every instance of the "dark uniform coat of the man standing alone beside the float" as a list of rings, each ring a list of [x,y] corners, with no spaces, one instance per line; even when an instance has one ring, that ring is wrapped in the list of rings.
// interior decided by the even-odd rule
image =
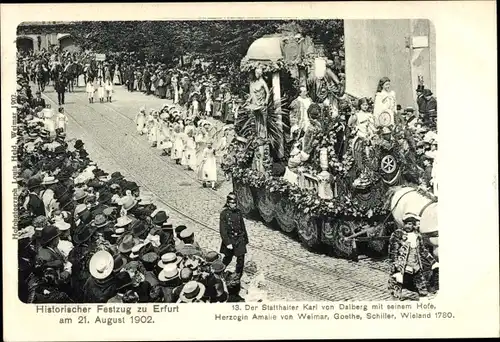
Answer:
[[[219,229],[222,238],[221,253],[230,254],[227,245],[233,245],[235,256],[247,252],[248,234],[239,209],[224,208],[220,213]]]

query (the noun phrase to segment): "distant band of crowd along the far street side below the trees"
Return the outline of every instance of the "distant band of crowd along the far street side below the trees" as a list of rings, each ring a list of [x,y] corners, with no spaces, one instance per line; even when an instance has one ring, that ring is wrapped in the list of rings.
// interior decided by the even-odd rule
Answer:
[[[234,122],[238,106],[245,102],[234,89],[234,81],[223,71],[203,67],[201,62],[193,69],[167,68],[160,62],[134,61],[133,54],[110,55],[109,61],[96,61],[93,56],[57,50],[19,55],[18,74],[35,82],[39,91],[53,82],[61,93],[59,105],[64,105],[66,92],[81,86],[82,77],[89,103],[95,99],[111,102],[113,87],[123,85],[130,92],[171,100],[193,117],[213,117],[229,124]]]

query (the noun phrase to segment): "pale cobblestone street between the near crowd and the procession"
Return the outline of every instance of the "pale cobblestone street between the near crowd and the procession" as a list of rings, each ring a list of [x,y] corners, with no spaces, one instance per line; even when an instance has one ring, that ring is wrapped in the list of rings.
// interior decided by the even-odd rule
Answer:
[[[112,103],[89,104],[84,88],[75,89],[75,93],[66,93],[64,106],[70,120],[68,138],[82,139],[100,168],[120,171],[153,192],[174,226],[181,222],[191,226],[201,246],[218,250],[219,212],[232,190],[230,182],[224,180],[217,191],[203,188],[194,172],[161,156],[162,151],[150,147],[147,138],[139,136],[135,129],[134,117],[141,106],[158,109],[167,100],[115,86]],[[45,96],[57,108],[57,94],[52,87]],[[247,260],[253,260],[257,272],[264,273],[270,300],[390,299],[385,261],[354,262],[315,254],[298,240],[260,222],[245,223],[250,239]]]

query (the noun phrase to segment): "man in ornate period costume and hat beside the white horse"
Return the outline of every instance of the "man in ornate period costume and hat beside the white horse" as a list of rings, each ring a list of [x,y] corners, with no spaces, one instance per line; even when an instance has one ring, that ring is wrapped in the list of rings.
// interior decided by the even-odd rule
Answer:
[[[403,287],[412,280],[419,296],[429,293],[429,279],[433,270],[439,267],[424,245],[418,232],[420,218],[412,213],[405,214],[403,229],[397,229],[389,240],[389,257],[392,261],[389,289],[396,298],[401,298]],[[409,284],[411,287],[411,283]]]

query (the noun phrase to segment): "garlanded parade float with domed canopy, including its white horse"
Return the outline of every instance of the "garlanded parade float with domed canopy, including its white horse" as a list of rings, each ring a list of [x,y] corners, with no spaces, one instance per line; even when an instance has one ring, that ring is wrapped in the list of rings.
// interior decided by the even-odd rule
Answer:
[[[399,216],[411,208],[437,254],[437,199],[416,186],[404,129],[381,120],[369,143],[351,132],[356,99],[310,38],[262,37],[241,71],[251,78],[249,96],[223,168],[245,215],[296,234],[308,249],[357,259],[386,254]],[[303,92],[293,101],[281,98],[284,73]]]

